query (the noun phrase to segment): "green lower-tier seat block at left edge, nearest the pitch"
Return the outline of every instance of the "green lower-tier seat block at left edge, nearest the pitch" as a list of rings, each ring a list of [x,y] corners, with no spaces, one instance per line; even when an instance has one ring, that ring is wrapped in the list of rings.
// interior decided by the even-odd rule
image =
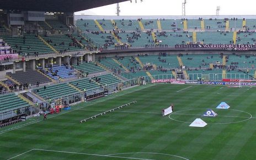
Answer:
[[[17,95],[14,93],[0,95],[0,104],[0,111],[21,108],[22,106],[29,105],[27,102],[17,97]]]

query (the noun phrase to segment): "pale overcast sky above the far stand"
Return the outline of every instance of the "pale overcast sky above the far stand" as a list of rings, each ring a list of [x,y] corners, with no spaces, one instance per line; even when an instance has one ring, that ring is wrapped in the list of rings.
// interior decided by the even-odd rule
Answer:
[[[132,0],[119,3],[120,15],[182,15],[184,0]],[[255,0],[186,0],[186,15],[256,15]],[[116,4],[76,12],[75,15],[116,15]]]

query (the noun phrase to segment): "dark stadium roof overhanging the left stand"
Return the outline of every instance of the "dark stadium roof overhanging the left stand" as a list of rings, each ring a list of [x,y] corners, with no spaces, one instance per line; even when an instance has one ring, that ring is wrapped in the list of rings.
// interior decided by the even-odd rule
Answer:
[[[0,0],[0,9],[43,12],[77,12],[127,0]]]

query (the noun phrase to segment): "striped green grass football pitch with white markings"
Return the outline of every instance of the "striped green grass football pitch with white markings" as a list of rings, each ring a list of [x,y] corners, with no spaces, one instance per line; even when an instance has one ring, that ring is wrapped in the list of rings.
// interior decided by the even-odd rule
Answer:
[[[0,129],[0,159],[256,159],[255,97],[254,87],[135,87]],[[216,109],[221,102],[231,108]],[[171,103],[174,113],[162,117]],[[218,115],[202,117],[207,109]],[[196,118],[208,125],[189,127]]]

